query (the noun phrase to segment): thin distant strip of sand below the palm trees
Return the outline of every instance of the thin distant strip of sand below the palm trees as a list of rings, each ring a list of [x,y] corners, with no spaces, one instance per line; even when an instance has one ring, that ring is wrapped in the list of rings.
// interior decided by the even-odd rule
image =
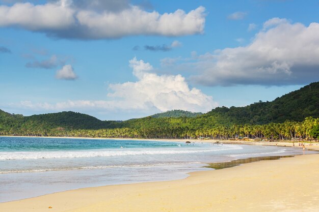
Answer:
[[[165,141],[165,142],[195,142],[195,143],[224,143],[224,144],[245,144],[245,145],[266,145],[266,146],[286,146],[286,147],[299,147],[298,143],[305,143],[305,148],[308,150],[319,150],[319,142],[306,142],[306,141],[243,141],[243,140],[199,140],[199,139],[157,139],[157,138],[88,138],[88,137],[59,137],[59,136],[3,136],[0,137],[17,137],[17,138],[57,138],[57,139],[88,139],[88,140],[137,140],[137,141]],[[295,146],[294,146],[295,143]],[[309,145],[312,144],[312,145]]]

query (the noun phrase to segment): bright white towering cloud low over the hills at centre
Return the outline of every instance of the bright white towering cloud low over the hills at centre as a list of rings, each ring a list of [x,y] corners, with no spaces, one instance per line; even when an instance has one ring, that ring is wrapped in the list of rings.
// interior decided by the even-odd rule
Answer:
[[[111,84],[109,97],[124,99],[133,108],[156,107],[161,111],[182,109],[208,111],[217,104],[197,88],[190,89],[181,75],[157,75],[150,73],[152,66],[143,60],[129,61],[137,82]]]

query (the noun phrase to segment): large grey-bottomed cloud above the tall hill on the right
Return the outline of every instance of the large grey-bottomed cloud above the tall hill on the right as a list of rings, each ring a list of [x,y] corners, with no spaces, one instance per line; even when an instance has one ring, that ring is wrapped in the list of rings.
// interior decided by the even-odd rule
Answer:
[[[185,59],[168,60],[196,70],[191,80],[209,86],[307,84],[319,78],[319,23],[273,18],[251,43]],[[170,68],[173,65],[170,64]],[[180,69],[179,69],[180,70]]]

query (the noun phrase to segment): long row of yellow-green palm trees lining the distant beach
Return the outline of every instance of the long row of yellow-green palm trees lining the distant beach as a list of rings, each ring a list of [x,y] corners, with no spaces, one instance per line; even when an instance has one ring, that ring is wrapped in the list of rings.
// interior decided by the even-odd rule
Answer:
[[[218,125],[214,127],[194,127],[190,123],[178,126],[140,126],[138,128],[116,128],[99,130],[63,130],[61,128],[36,131],[0,131],[0,135],[26,136],[70,136],[70,137],[97,137],[97,138],[166,138],[166,139],[235,139],[247,137],[250,139],[290,140],[316,139],[318,132],[314,126],[319,125],[319,118],[306,117],[303,122],[270,123],[266,125]]]

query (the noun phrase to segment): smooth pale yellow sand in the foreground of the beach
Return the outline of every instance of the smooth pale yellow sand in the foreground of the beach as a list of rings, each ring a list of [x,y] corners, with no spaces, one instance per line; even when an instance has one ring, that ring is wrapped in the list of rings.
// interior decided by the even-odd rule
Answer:
[[[319,211],[319,155],[194,172],[181,180],[60,192],[1,203],[0,211]]]

